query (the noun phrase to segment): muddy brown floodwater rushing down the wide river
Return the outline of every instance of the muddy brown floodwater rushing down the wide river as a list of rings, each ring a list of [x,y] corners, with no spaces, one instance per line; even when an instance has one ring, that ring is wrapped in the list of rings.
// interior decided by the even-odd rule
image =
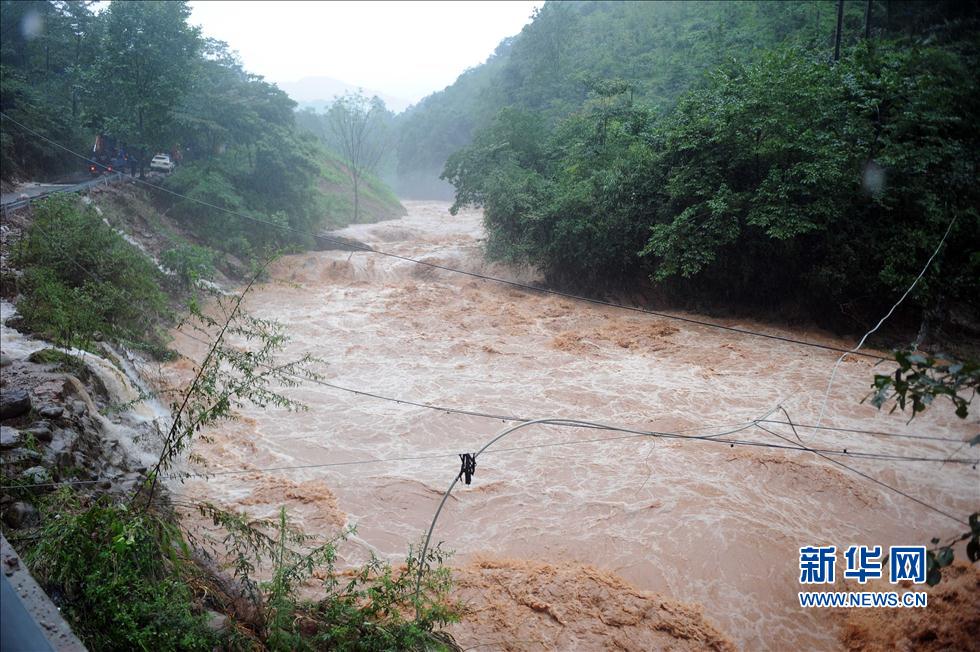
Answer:
[[[440,265],[535,280],[526,270],[484,261],[478,212],[452,217],[445,203],[405,206],[403,219],[342,233]],[[335,385],[488,413],[682,434],[721,433],[780,402],[795,422],[814,424],[837,357],[364,252],[277,261],[247,306],[288,326],[284,358],[321,357],[323,379]],[[854,344],[747,320],[721,323]],[[176,337],[185,354],[201,357],[201,344]],[[977,433],[975,419],[959,420],[945,404],[909,426],[907,416],[862,405],[874,364],[855,358],[841,366],[823,425],[958,441]],[[307,531],[323,535],[356,524],[357,535],[342,549],[348,563],[372,551],[403,557],[456,476],[456,454],[478,450],[507,425],[323,385],[287,393],[309,410],[248,409],[195,449],[211,471],[249,473],[174,488],[255,515],[284,504]],[[796,441],[788,426],[766,425]],[[799,435],[808,446],[850,452],[942,457],[961,447],[833,430],[801,428]],[[758,428],[731,437],[788,445]],[[618,629],[642,625],[633,622],[643,620],[636,614],[648,612],[635,605],[662,598],[664,622],[651,631],[670,633],[670,618],[678,628],[684,621],[702,628],[692,635],[695,648],[730,640],[746,650],[839,649],[836,617],[798,605],[801,546],[887,550],[963,529],[799,451],[544,426],[520,430],[496,449],[479,458],[471,485],[457,487],[434,536],[456,551],[460,591],[477,606],[453,630],[464,647],[595,649],[621,635]],[[957,454],[976,457],[976,450]],[[338,465],[412,457],[427,459]],[[968,465],[834,459],[952,514],[965,517],[980,506],[978,472]],[[259,470],[297,466],[305,468]],[[604,603],[634,606],[623,607],[626,616],[593,618],[583,607],[590,600],[600,611]],[[546,613],[550,627],[518,632],[521,609]],[[617,644],[657,640],[632,631]]]

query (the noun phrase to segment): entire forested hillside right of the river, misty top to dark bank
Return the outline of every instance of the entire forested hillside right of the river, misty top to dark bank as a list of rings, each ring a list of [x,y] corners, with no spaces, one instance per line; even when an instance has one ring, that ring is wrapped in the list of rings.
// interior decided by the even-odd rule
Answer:
[[[955,217],[906,318],[975,309],[976,11],[845,2],[834,61],[836,7],[548,3],[403,118],[400,163],[449,154],[488,255],[552,283],[836,328],[894,302]],[[467,103],[471,133],[440,127]]]

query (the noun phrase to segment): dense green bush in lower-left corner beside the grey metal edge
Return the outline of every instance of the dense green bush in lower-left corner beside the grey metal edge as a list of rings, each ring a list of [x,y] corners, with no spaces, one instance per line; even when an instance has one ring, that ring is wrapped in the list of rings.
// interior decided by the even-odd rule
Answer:
[[[44,509],[27,562],[92,650],[210,650],[215,636],[186,583],[187,552],[174,526],[69,490]]]

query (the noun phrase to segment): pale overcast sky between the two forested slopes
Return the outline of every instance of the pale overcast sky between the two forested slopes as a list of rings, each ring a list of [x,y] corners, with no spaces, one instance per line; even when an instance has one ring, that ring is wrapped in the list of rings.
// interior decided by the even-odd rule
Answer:
[[[537,2],[191,2],[191,24],[272,82],[325,76],[415,102],[482,63]]]

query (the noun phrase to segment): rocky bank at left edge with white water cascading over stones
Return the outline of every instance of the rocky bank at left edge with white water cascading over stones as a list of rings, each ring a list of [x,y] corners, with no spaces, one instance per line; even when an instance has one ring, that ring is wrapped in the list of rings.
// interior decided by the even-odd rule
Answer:
[[[15,321],[12,307],[4,308],[4,321]],[[36,524],[35,502],[59,486],[91,496],[131,493],[145,477],[156,427],[126,404],[126,394],[139,392],[125,371],[114,366],[114,356],[50,348],[6,323],[3,336],[4,524]]]

